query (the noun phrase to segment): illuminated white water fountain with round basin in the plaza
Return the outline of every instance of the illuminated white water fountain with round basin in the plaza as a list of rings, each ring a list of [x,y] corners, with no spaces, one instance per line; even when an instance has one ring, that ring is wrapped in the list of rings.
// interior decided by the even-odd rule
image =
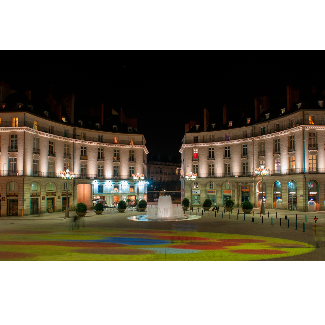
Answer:
[[[183,221],[201,218],[199,215],[184,214],[182,206],[173,206],[170,195],[159,197],[158,207],[148,206],[148,215],[134,215],[127,219],[134,221]]]

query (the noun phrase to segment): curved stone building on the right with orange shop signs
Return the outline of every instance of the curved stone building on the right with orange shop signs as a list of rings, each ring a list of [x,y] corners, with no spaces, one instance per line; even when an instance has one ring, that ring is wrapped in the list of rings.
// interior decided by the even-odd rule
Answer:
[[[182,199],[201,206],[206,198],[235,206],[251,201],[260,207],[298,211],[324,210],[325,192],[325,96],[312,93],[304,100],[287,87],[287,98],[270,103],[255,98],[254,109],[232,112],[226,105],[219,121],[185,124],[182,154]],[[264,165],[270,174],[256,177],[255,167]],[[196,173],[192,193],[186,173]],[[324,198],[325,199],[325,198]]]

